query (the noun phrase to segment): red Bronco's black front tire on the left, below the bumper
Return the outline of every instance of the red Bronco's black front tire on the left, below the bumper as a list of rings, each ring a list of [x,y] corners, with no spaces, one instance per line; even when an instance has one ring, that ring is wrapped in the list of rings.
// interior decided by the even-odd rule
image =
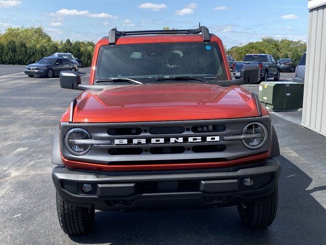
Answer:
[[[66,204],[57,192],[57,212],[61,229],[68,235],[83,235],[92,231],[94,208]]]

